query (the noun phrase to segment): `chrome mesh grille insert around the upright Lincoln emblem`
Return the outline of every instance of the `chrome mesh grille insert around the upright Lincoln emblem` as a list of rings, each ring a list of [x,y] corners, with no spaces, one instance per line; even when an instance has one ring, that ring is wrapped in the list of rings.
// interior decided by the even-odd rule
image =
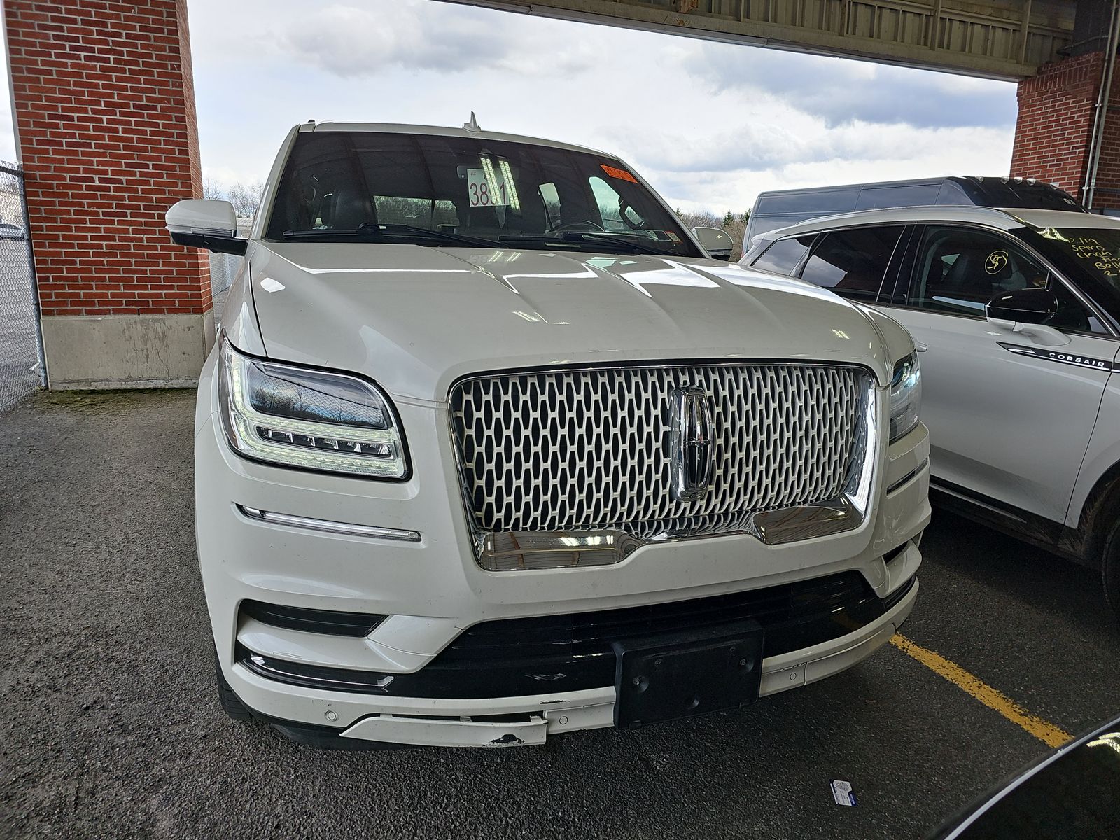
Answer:
[[[670,392],[710,395],[715,475],[670,497]],[[841,495],[868,375],[824,365],[496,374],[451,392],[467,507],[484,532],[743,530],[757,511]]]

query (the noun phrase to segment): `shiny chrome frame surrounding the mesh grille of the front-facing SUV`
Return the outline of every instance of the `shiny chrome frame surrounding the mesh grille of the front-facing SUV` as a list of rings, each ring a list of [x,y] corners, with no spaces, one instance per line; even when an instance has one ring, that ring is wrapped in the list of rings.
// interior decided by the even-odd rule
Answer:
[[[451,395],[459,385],[472,380],[491,379],[494,376],[517,376],[532,373],[578,373],[589,370],[644,370],[681,364],[697,366],[801,365],[805,367],[828,367],[844,371],[856,370],[862,373],[866,376],[866,388],[860,395],[862,422],[857,427],[857,438],[853,441],[852,447],[853,455],[849,464],[849,474],[843,493],[837,498],[825,500],[823,502],[816,502],[809,505],[796,505],[794,507],[773,511],[757,511],[750,514],[745,528],[721,531],[719,533],[673,534],[663,532],[648,539],[642,539],[618,530],[533,531],[524,533],[531,534],[534,538],[534,541],[551,540],[553,541],[553,545],[535,545],[528,551],[502,552],[500,556],[487,553],[487,549],[493,551],[496,539],[511,535],[511,532],[494,533],[483,531],[475,522],[474,511],[470,508],[470,503],[468,502],[472,494],[467,484],[465,457],[458,436],[455,433],[454,411],[451,409]],[[455,456],[456,470],[459,475],[459,500],[463,505],[463,515],[466,521],[467,530],[470,533],[475,561],[480,569],[496,573],[505,573],[510,571],[588,568],[619,563],[634,553],[634,551],[645,545],[743,535],[754,536],[766,545],[781,545],[788,542],[797,542],[818,536],[831,536],[847,531],[855,531],[867,520],[871,507],[871,495],[877,478],[876,456],[878,455],[879,448],[878,400],[879,394],[886,393],[887,389],[889,389],[889,385],[887,385],[887,388],[879,388],[875,372],[862,365],[840,364],[836,362],[811,362],[804,360],[665,360],[656,363],[608,363],[600,365],[571,365],[564,367],[538,366],[503,371],[484,371],[460,376],[448,388],[446,422],[447,433],[451,441],[451,451]],[[855,454],[860,449],[862,449],[862,457]],[[517,533],[513,532],[512,536],[516,540]],[[594,543],[589,541],[594,541]],[[604,542],[614,547],[614,551],[612,552],[608,547],[604,545]],[[530,567],[530,564],[525,562],[526,557],[545,553],[568,554],[570,557],[567,562],[550,566]],[[511,554],[517,554],[521,557],[517,568],[497,568],[496,560],[501,557],[507,557]],[[591,557],[585,559],[585,554],[591,554]]]

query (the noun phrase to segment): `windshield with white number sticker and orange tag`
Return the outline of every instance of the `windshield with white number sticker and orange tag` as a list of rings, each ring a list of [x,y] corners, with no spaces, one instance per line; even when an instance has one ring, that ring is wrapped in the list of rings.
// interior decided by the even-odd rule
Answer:
[[[617,159],[438,134],[299,134],[265,235],[702,256]]]

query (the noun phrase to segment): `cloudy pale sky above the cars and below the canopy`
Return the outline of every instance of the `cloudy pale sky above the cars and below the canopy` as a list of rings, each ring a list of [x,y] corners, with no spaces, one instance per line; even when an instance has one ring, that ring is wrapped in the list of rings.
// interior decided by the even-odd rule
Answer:
[[[459,125],[472,110],[484,129],[617,153],[684,209],[1010,165],[1008,83],[437,0],[188,7],[203,166],[225,185],[263,178],[309,118]]]

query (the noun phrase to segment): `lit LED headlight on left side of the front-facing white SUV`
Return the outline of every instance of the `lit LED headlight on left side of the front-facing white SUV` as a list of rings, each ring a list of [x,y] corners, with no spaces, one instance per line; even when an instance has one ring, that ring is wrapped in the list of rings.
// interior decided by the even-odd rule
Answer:
[[[241,455],[289,467],[403,478],[389,399],[356,376],[262,362],[222,340],[222,426]]]

